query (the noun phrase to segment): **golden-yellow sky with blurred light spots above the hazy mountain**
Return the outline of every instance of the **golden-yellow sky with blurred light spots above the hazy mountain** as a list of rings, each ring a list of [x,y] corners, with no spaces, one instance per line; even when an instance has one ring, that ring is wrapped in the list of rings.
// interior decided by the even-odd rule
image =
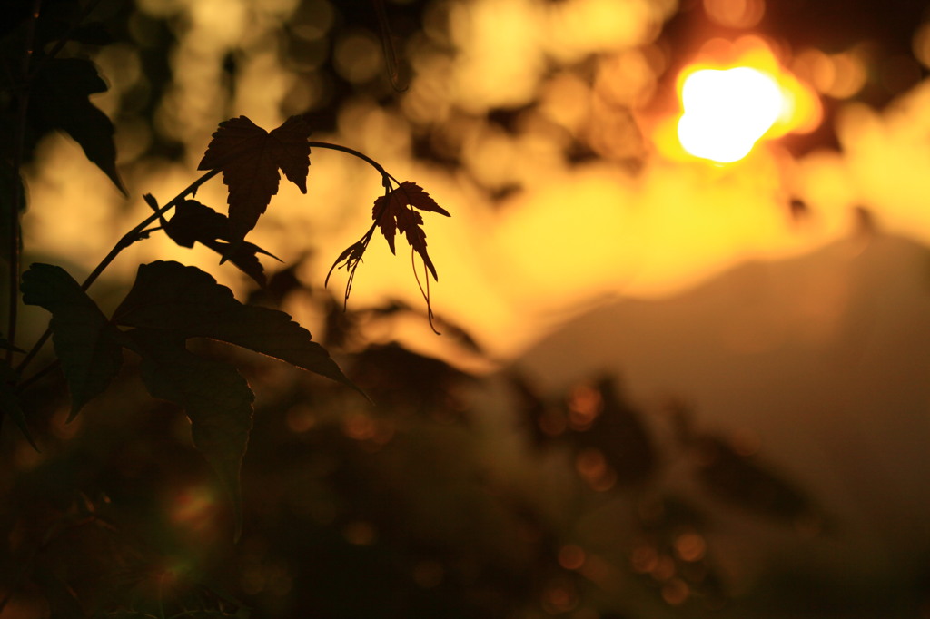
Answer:
[[[140,6],[179,16],[182,24],[171,52],[176,85],[157,122],[188,145],[187,161],[139,165],[126,179],[131,207],[125,217],[113,217],[120,198],[101,189],[96,169],[73,144],[47,144],[46,165],[29,182],[27,244],[35,254],[67,247],[70,259],[89,269],[146,211],[142,193],[165,201],[196,178],[196,163],[224,119],[219,75],[229,49],[244,58],[233,88],[235,114],[272,128],[284,119],[286,97],[309,105],[319,96],[318,85],[297,83],[279,59],[274,32],[294,11],[294,0],[145,0]],[[324,33],[331,18],[326,2],[312,7],[316,12],[304,24],[308,38]],[[923,139],[930,86],[916,86],[883,111],[845,101],[835,121],[840,151],[795,158],[772,139],[732,165],[670,156],[661,148],[661,127],[680,110],[669,105],[674,80],[663,75],[669,52],[656,42],[674,10],[671,0],[435,3],[425,33],[405,48],[415,73],[396,104],[352,99],[337,135],[314,134],[365,151],[452,213],[425,217],[440,275],[432,287],[434,310],[471,330],[493,354],[512,355],[605,296],[670,295],[746,259],[794,256],[844,238],[854,231],[857,205],[868,207],[883,230],[930,242],[930,149]],[[441,27],[446,22],[448,29]],[[314,31],[314,24],[320,28]],[[377,39],[358,34],[337,45],[336,60],[346,75],[363,79],[384,71],[379,49]],[[98,61],[114,92],[144,79],[126,49],[104,49]],[[819,97],[855,94],[850,80],[862,72],[852,52],[829,57],[795,50],[779,61],[786,79],[808,79]],[[96,101],[113,112],[113,96]],[[487,121],[492,108],[519,106],[527,111],[510,133]],[[458,153],[460,169],[415,159],[413,133]],[[144,130],[121,127],[118,139],[126,160]],[[599,157],[570,163],[566,153],[575,142]],[[511,187],[520,189],[502,203],[490,199],[490,191]],[[198,199],[219,208],[224,191],[214,181]],[[317,250],[303,274],[320,284],[330,260],[367,227],[379,192],[370,168],[314,151],[308,195],[283,186],[250,240],[285,261]],[[801,225],[788,212],[792,197],[811,209]],[[84,223],[76,223],[77,212]],[[113,271],[128,275],[155,257],[196,263],[224,283],[247,285],[219,269],[210,252],[180,250],[160,237],[126,252]],[[339,271],[330,285],[339,293],[343,283]],[[386,296],[414,307],[421,302],[405,252],[392,257],[376,239],[350,305]],[[300,318],[301,309],[292,310]],[[312,324],[312,316],[303,318]],[[419,323],[401,328],[427,331]]]

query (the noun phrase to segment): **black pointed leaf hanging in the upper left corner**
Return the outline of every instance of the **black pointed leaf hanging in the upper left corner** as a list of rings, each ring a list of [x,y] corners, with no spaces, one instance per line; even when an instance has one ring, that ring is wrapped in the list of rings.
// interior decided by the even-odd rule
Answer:
[[[30,122],[40,134],[59,129],[81,145],[91,162],[96,164],[119,191],[126,193],[116,171],[116,146],[113,143],[113,123],[88,96],[105,92],[106,82],[97,68],[85,59],[40,59],[30,99]]]

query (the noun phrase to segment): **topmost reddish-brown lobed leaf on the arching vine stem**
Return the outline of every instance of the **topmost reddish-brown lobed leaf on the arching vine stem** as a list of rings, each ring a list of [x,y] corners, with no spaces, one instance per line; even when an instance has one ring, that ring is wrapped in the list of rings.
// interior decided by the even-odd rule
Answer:
[[[221,169],[229,187],[229,218],[233,242],[255,228],[278,192],[281,176],[307,192],[310,171],[310,125],[303,116],[291,116],[271,133],[239,116],[219,124],[206,147],[198,170]]]

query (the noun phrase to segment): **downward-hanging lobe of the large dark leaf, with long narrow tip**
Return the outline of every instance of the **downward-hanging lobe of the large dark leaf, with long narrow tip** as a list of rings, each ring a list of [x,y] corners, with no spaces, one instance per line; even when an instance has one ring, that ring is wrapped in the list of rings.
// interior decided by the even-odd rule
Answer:
[[[125,335],[142,357],[142,380],[149,393],[178,404],[190,418],[194,446],[216,470],[233,502],[238,539],[242,531],[239,471],[252,429],[252,389],[232,365],[186,349],[183,336],[153,329],[133,329]]]

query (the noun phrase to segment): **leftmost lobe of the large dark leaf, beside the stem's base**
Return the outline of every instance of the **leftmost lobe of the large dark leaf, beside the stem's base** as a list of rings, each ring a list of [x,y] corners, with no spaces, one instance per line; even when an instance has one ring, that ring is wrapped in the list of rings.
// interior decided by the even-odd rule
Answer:
[[[71,391],[71,416],[106,389],[123,364],[115,327],[68,271],[33,264],[22,274],[22,302],[52,313],[55,354]]]

